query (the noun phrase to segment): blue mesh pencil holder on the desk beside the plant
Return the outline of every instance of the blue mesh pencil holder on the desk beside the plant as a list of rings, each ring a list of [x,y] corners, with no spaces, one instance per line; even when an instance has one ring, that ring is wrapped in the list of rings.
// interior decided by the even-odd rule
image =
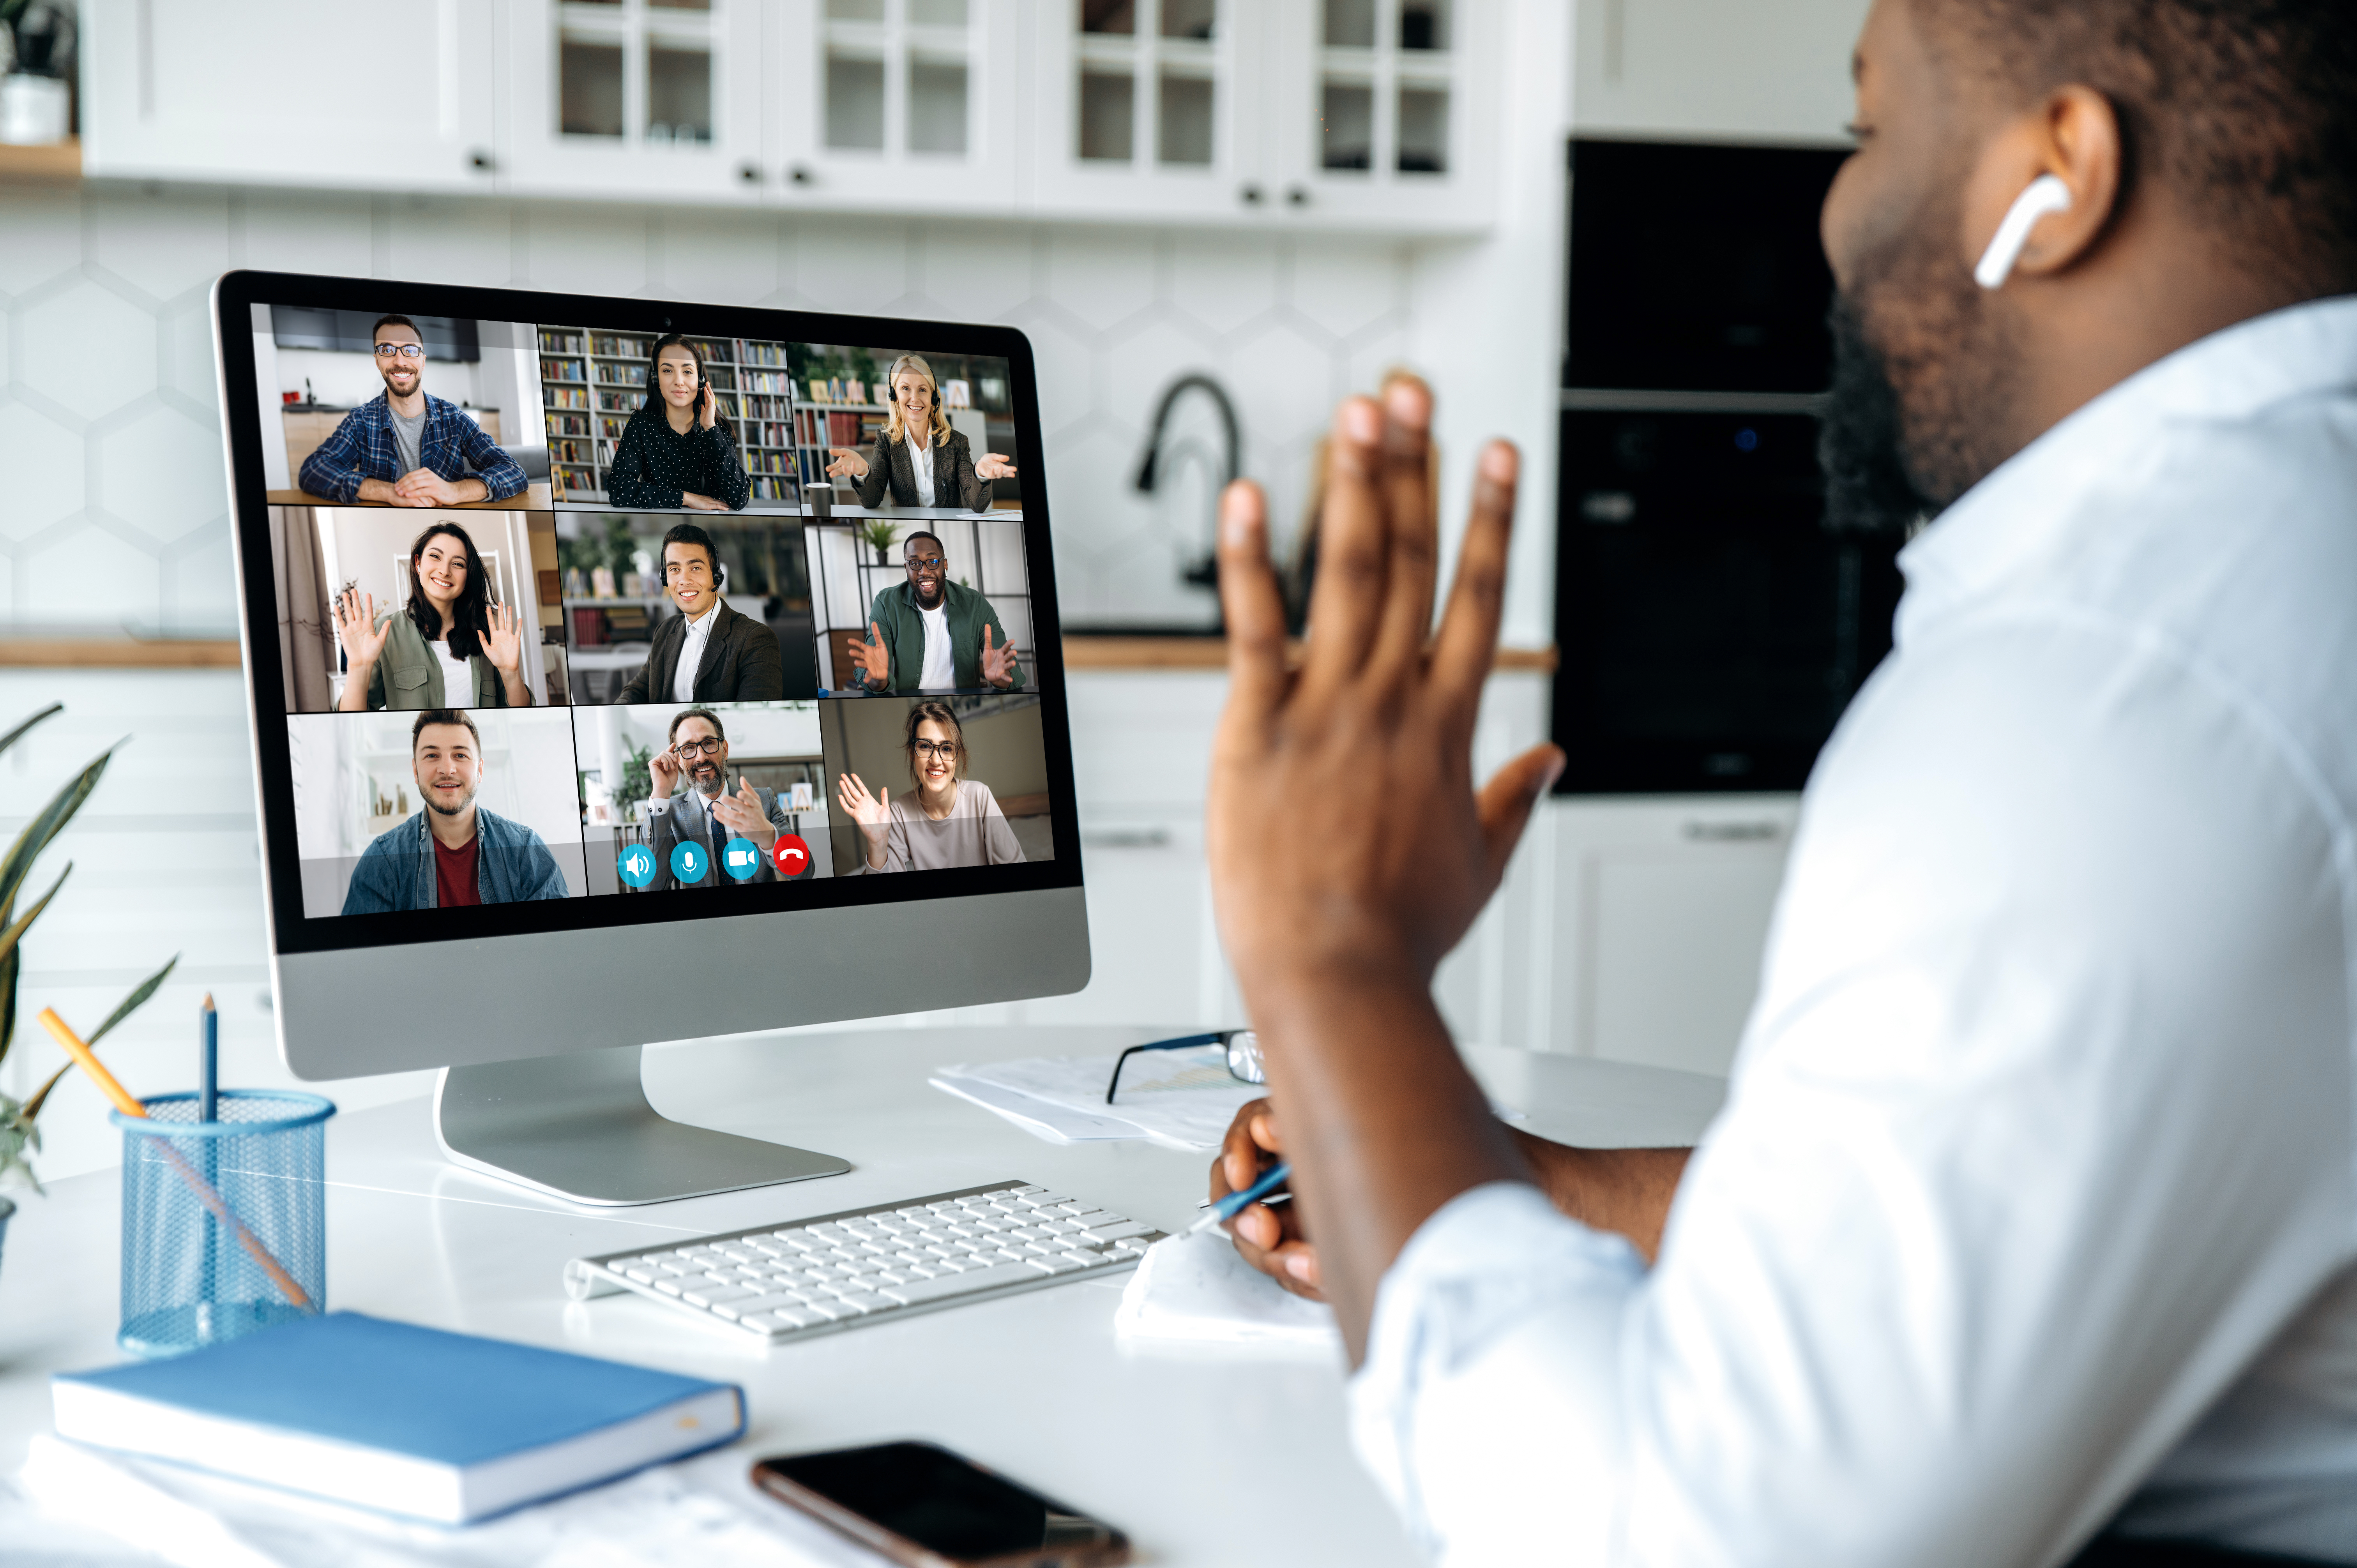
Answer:
[[[158,1094],[123,1129],[123,1327],[134,1356],[177,1356],[328,1309],[328,1118],[283,1089]]]

